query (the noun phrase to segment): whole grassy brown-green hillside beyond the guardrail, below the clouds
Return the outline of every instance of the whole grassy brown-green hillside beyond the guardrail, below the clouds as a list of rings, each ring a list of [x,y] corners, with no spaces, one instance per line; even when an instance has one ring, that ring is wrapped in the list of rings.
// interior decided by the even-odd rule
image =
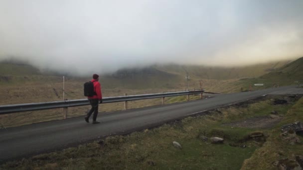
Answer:
[[[300,62],[302,59],[292,63],[280,61],[241,68],[153,65],[140,69],[121,69],[112,74],[100,75],[100,82],[104,96],[179,91],[187,88],[187,81],[184,78],[187,71],[190,76],[189,89],[200,88],[201,81],[202,87],[207,91],[236,92],[241,88],[248,90],[249,86],[258,83],[265,85],[253,87],[252,90],[272,87],[273,84],[289,85],[290,82],[277,81],[273,79],[274,77],[254,77],[272,70],[276,70],[274,74],[294,72],[296,77],[302,73]],[[2,62],[0,66],[0,104],[57,101],[63,98],[63,75],[51,71],[41,72],[24,63]],[[245,79],[239,81],[240,78]],[[90,79],[91,77],[65,75],[65,98],[83,98],[83,83]]]

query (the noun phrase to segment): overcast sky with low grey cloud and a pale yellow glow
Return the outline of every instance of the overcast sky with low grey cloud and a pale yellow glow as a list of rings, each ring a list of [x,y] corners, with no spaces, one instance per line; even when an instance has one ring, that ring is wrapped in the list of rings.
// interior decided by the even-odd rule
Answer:
[[[0,0],[0,60],[11,57],[76,74],[293,59],[303,0]]]

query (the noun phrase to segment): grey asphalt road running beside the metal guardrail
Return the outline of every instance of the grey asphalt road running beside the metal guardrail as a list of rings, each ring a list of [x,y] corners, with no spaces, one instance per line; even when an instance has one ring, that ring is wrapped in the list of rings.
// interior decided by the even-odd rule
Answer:
[[[100,124],[86,123],[83,116],[1,129],[0,162],[60,150],[112,134],[127,134],[270,93],[303,94],[303,88],[286,86],[220,94],[203,100],[103,113],[98,115]]]

